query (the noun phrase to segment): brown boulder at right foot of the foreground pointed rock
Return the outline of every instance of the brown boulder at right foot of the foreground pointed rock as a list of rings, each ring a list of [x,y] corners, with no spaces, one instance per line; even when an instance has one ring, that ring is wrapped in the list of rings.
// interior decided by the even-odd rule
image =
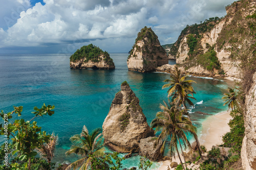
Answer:
[[[157,137],[140,139],[140,156],[146,156],[151,161],[155,161],[162,156],[163,153],[161,153],[161,147],[163,145],[163,141],[159,141],[159,143],[156,144],[156,139]]]

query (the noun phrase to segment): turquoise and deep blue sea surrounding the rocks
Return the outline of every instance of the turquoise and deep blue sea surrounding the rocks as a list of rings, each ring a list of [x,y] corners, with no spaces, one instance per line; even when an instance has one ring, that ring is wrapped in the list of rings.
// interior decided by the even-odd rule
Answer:
[[[129,54],[110,54],[115,70],[70,69],[70,54],[0,55],[0,110],[10,112],[12,106],[23,106],[22,117],[33,117],[33,107],[42,104],[55,105],[55,114],[35,119],[42,130],[59,136],[55,158],[58,163],[71,162],[75,155],[66,156],[71,147],[69,138],[81,132],[83,125],[89,131],[101,127],[108,115],[115,93],[123,81],[127,81],[140,100],[140,106],[148,124],[160,111],[159,104],[167,101],[167,89],[162,90],[168,74],[128,71],[126,60]],[[172,63],[172,62],[171,62]],[[191,117],[199,128],[205,115],[195,111],[217,114],[227,109],[221,100],[232,82],[193,78],[195,106]],[[138,156],[125,160],[124,167],[136,166]],[[123,168],[124,168],[123,167]],[[155,168],[155,166],[153,166]]]

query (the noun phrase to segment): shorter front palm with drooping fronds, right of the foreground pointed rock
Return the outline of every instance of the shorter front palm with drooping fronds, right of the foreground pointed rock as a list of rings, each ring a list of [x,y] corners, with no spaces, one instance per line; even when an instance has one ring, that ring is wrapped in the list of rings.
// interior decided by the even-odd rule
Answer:
[[[169,144],[169,151],[171,156],[175,156],[175,153],[178,153],[178,157],[180,159],[180,162],[182,163],[182,160],[180,158],[180,154],[178,151],[178,143],[180,145],[180,149],[182,152],[182,156],[184,158],[184,163],[186,165],[186,160],[183,154],[183,149],[181,145],[181,140],[184,145],[184,149],[186,147],[191,148],[191,145],[189,141],[187,140],[186,133],[190,133],[193,136],[196,134],[196,127],[191,124],[189,119],[187,117],[184,117],[184,110],[179,109],[177,106],[171,106],[169,107],[165,102],[165,106],[160,104],[160,108],[162,111],[158,112],[156,114],[156,118],[152,120],[151,127],[156,128],[155,133],[158,131],[161,131],[158,139],[156,142],[159,142],[159,140],[164,140],[163,146],[166,142],[167,137],[170,137],[170,144]],[[183,166],[183,169],[185,167]]]

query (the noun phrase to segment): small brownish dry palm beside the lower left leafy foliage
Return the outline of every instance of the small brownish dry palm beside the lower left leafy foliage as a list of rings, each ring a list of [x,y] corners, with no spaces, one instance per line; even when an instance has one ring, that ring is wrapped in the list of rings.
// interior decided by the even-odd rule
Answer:
[[[55,134],[52,133],[48,143],[44,143],[39,148],[35,149],[39,155],[47,159],[49,164],[51,163],[51,160],[54,157],[54,151],[56,145],[58,144],[58,138],[58,135],[55,136]]]

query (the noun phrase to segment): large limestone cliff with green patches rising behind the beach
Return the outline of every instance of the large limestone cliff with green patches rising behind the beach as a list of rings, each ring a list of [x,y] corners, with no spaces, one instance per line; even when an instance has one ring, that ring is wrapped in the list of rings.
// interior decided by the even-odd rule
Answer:
[[[176,63],[188,72],[201,67],[211,75],[239,77],[240,56],[245,55],[255,41],[248,17],[255,13],[255,4],[252,0],[234,2],[226,7],[225,17],[187,26],[169,55],[176,57]],[[251,53],[246,52],[246,55]]]

